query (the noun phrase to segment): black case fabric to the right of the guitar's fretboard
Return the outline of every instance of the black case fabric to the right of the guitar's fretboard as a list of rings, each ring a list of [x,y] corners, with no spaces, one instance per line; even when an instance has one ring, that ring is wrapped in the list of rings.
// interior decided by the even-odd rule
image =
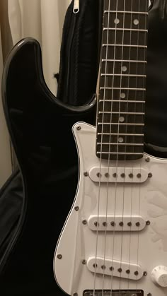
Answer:
[[[167,1],[154,0],[149,11],[145,148],[167,158]]]

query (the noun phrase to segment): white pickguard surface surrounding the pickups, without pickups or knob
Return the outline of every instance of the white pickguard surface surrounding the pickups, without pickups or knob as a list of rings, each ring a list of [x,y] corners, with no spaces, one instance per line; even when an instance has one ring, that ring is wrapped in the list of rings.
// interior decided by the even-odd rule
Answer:
[[[77,129],[81,126],[81,129]],[[100,184],[84,172],[92,167],[108,167],[108,160],[96,157],[96,128],[83,122],[74,125],[74,136],[79,152],[79,185],[74,204],[59,237],[54,254],[54,276],[59,286],[69,295],[82,296],[84,290],[144,290],[144,296],[166,296],[167,288],[155,285],[151,271],[156,266],[167,266],[167,160],[144,154],[141,160],[119,161],[118,167],[141,167],[152,173],[142,184]],[[149,162],[146,158],[149,157]],[[110,161],[110,167],[116,167]],[[65,186],[65,184],[64,184]],[[98,203],[99,200],[99,203]],[[91,215],[141,215],[149,220],[139,232],[97,232],[82,223]],[[75,208],[79,207],[79,211]],[[76,208],[78,209],[78,208]],[[141,266],[147,276],[129,280],[103,276],[88,270],[83,260],[97,256],[111,261],[122,261]],[[62,259],[57,255],[61,254]],[[61,257],[60,257],[61,258]]]

